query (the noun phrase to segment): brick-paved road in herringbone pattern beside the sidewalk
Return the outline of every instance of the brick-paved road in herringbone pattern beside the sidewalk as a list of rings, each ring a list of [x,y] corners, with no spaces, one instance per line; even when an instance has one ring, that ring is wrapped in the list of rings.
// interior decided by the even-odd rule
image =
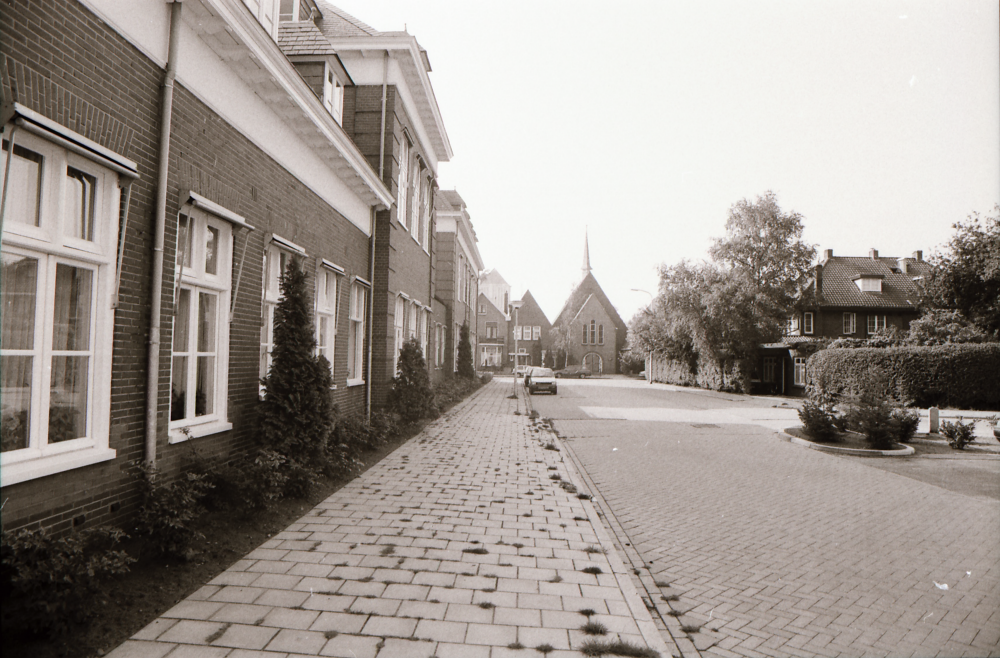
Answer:
[[[800,448],[759,425],[579,412],[726,404],[696,395],[566,382],[534,403],[566,419],[555,425],[626,540],[680,595],[670,606],[714,629],[698,634],[715,642],[702,638],[703,656],[1000,655],[1000,502]]]

